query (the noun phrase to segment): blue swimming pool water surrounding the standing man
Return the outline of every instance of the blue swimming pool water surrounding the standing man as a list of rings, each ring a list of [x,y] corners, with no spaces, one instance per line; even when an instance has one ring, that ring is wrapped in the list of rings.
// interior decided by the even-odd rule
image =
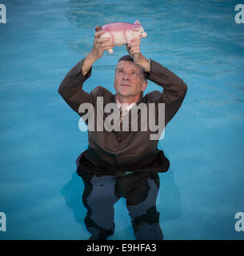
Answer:
[[[58,95],[66,72],[91,49],[94,28],[138,19],[142,54],[188,85],[182,108],[159,142],[170,158],[160,174],[165,239],[243,239],[244,24],[237,1],[2,1],[0,24],[0,239],[87,239],[75,160],[87,146],[78,115]],[[124,46],[104,54],[84,89],[114,92]],[[152,82],[146,89],[161,90]],[[134,239],[122,199],[110,239]]]

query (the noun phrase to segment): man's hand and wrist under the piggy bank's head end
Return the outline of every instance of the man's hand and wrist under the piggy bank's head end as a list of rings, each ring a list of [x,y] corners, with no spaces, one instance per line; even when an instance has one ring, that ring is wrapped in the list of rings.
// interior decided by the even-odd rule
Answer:
[[[150,65],[147,59],[142,55],[140,49],[141,39],[134,38],[129,43],[126,44],[126,49],[130,54],[131,58],[134,59],[134,63],[143,67],[147,72],[150,71]]]

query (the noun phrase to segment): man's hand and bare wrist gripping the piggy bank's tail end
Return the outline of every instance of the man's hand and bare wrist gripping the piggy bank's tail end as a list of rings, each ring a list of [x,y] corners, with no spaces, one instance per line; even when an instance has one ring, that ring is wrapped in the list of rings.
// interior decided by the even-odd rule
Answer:
[[[111,38],[100,38],[104,31],[98,31],[94,34],[94,46],[85,58],[85,61],[82,65],[82,74],[86,75],[90,70],[91,66],[98,60],[98,58],[102,58],[102,54],[105,50],[109,50],[114,47]]]

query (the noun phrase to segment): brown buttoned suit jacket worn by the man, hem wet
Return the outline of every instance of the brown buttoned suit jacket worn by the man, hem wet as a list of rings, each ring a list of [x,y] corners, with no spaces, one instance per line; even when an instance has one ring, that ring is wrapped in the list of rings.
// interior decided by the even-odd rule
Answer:
[[[89,102],[96,112],[97,97],[103,97],[103,104],[116,102],[115,94],[102,86],[97,86],[90,93],[82,90],[82,85],[90,77],[91,70],[82,75],[82,61],[78,62],[62,80],[58,93],[78,113],[78,107]],[[158,62],[150,60],[150,73],[147,78],[163,88],[162,93],[154,90],[136,102],[146,104],[165,103],[165,126],[182,105],[186,96],[186,83],[176,74]],[[81,113],[78,113],[82,116]],[[96,114],[96,113],[95,113]],[[130,111],[129,111],[130,114]],[[106,118],[108,114],[104,114]],[[157,114],[156,114],[157,117]],[[140,113],[138,112],[138,118]],[[138,124],[140,122],[138,121]],[[157,123],[157,121],[156,121]],[[165,172],[169,169],[170,162],[162,150],[158,150],[158,141],[150,140],[148,131],[88,131],[88,149],[79,155],[77,160],[78,172],[92,171],[100,174],[114,174],[116,172]]]

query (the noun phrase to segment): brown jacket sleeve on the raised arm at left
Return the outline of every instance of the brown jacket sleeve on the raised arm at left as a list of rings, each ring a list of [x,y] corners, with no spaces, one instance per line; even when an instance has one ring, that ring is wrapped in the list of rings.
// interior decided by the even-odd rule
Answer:
[[[82,74],[82,64],[85,58],[78,62],[69,72],[66,77],[63,78],[60,86],[58,87],[58,93],[67,104],[78,113],[78,108],[82,103],[90,103],[94,105],[95,95],[87,93],[82,89],[83,83],[87,78],[90,78],[91,70],[88,71],[86,76]]]

